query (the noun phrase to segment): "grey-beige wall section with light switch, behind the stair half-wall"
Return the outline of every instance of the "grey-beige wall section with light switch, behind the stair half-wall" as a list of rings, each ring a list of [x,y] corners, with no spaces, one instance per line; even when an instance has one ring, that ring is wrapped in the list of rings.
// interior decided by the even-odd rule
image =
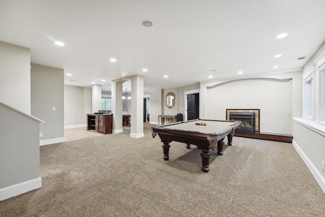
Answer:
[[[31,64],[30,75],[31,115],[45,121],[40,140],[64,139],[64,70]]]

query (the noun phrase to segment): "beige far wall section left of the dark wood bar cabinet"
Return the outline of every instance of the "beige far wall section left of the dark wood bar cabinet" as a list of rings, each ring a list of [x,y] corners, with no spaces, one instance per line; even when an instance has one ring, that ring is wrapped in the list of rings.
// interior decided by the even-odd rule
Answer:
[[[64,85],[64,126],[84,125],[84,88]]]

